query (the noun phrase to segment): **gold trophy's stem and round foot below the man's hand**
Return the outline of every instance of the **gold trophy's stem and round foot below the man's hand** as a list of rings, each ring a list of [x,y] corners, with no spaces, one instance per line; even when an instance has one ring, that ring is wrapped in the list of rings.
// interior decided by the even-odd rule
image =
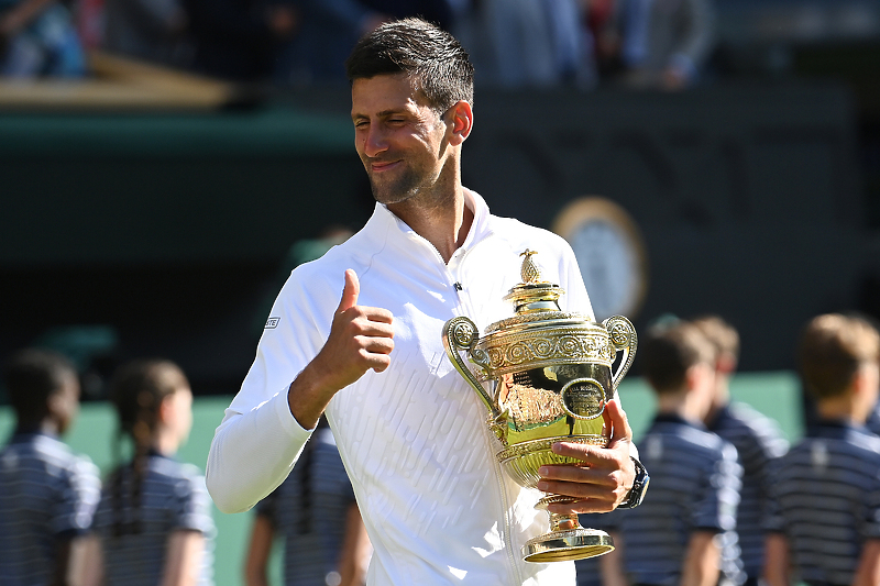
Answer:
[[[551,502],[572,502],[569,497],[548,495],[535,506],[547,510]],[[605,531],[584,529],[576,513],[560,515],[547,511],[550,517],[550,532],[529,540],[522,546],[522,557],[527,562],[564,562],[595,557],[614,550],[614,540]]]

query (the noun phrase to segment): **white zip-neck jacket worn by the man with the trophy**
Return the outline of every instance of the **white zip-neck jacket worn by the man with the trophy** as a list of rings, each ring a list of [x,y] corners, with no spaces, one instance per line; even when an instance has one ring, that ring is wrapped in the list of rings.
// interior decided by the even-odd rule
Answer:
[[[490,214],[465,190],[474,222],[444,264],[437,250],[384,206],[323,257],[297,267],[222,423],[207,465],[208,488],[224,512],[253,507],[284,480],[310,431],[290,414],[287,388],[330,332],[346,268],[362,306],[394,314],[391,366],[369,371],[327,409],[373,543],[371,585],[574,584],[571,562],[526,563],[520,548],[548,530],[541,496],[508,478],[486,408],[455,372],[443,323],[468,316],[481,331],[513,314],[502,298],[520,278],[520,253],[566,294],[563,310],[592,316],[570,246],[546,230]],[[457,284],[461,286],[458,290]]]

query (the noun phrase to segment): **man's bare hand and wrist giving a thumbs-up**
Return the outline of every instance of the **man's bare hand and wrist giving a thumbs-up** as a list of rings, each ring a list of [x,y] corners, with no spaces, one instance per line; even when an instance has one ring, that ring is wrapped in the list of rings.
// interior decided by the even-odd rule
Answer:
[[[327,403],[339,390],[371,368],[391,365],[394,350],[392,312],[358,305],[358,274],[345,270],[342,299],[333,314],[330,335],[321,351],[297,376],[287,392],[290,412],[305,429],[314,428]]]

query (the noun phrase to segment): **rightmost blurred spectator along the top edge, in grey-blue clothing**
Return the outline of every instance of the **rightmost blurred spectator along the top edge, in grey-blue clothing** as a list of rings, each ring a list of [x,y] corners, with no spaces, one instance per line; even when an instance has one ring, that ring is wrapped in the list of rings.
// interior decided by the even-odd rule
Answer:
[[[712,0],[625,0],[623,60],[632,87],[676,90],[696,81],[714,44]]]

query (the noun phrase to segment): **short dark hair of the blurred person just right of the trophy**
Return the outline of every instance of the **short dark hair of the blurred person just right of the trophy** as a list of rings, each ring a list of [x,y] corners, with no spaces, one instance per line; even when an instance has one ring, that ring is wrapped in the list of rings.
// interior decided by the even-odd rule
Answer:
[[[659,395],[684,388],[692,366],[715,362],[712,343],[686,321],[651,328],[639,345],[642,374]]]

